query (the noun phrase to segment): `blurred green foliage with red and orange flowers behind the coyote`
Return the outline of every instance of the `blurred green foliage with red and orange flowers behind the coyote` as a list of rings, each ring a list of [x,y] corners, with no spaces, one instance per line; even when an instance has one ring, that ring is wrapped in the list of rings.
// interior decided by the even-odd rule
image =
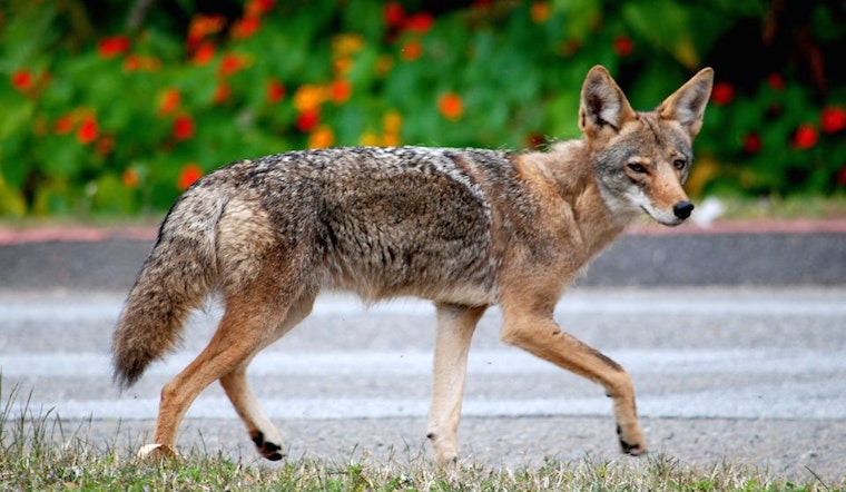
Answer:
[[[2,0],[0,216],[166,209],[203,173],[340,145],[578,137],[717,72],[695,194],[846,189],[843,2]]]

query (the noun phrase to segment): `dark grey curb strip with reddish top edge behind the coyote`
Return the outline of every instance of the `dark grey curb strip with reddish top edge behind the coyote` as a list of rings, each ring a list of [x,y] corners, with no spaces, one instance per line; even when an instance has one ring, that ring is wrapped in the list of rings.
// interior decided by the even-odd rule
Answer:
[[[156,233],[155,227],[0,228],[0,288],[126,291]],[[636,226],[578,285],[846,285],[846,220]]]

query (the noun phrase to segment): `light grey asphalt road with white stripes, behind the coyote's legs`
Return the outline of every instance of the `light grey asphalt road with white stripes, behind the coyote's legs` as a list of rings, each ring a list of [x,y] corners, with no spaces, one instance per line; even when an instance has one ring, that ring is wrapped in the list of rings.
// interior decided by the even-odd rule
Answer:
[[[94,442],[127,453],[144,444],[161,385],[204,346],[219,309],[196,315],[184,346],[119,394],[108,351],[124,295],[1,289],[0,409],[17,386],[30,409],[90,420]],[[250,381],[288,454],[403,462],[427,453],[433,317],[422,302],[365,309],[327,295],[259,355]],[[629,370],[653,453],[780,476],[846,476],[846,285],[582,286],[555,317]],[[602,390],[504,346],[499,322],[492,309],[474,338],[463,457],[496,468],[545,455],[628,460],[618,455]],[[256,456],[217,386],[194,404],[179,443]]]

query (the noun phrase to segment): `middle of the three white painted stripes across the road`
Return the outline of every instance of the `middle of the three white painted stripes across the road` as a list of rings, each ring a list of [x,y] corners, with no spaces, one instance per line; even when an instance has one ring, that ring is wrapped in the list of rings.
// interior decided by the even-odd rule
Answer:
[[[846,352],[798,350],[631,350],[608,351],[634,374],[815,374],[846,375]],[[195,354],[179,352],[154,363],[148,376],[176,375]],[[470,374],[555,374],[555,366],[517,348],[470,353]],[[259,354],[249,366],[252,377],[308,375],[429,375],[427,352],[314,352]],[[19,353],[0,357],[7,377],[104,377],[111,375],[106,354]]]

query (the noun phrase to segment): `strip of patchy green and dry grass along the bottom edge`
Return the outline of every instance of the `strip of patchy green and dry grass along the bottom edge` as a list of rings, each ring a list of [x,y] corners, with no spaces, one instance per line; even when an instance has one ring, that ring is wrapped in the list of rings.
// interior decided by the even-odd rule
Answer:
[[[578,462],[548,459],[541,466],[491,469],[473,463],[443,470],[424,456],[377,463],[288,460],[244,464],[190,450],[179,460],[137,460],[137,443],[91,442],[92,422],[68,427],[51,411],[18,402],[12,388],[0,404],[0,490],[125,491],[835,491],[840,484],[791,482],[729,462],[689,466],[656,455],[642,460]],[[2,378],[0,377],[0,394]],[[14,409],[20,409],[13,413]]]

